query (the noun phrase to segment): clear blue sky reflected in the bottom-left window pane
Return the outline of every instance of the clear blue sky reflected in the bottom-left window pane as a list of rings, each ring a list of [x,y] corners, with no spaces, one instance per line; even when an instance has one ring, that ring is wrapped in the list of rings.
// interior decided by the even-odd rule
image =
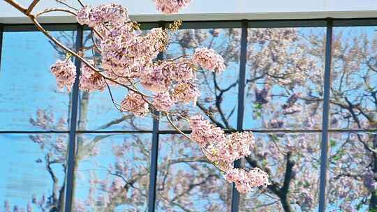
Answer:
[[[55,136],[52,136],[54,141]],[[4,201],[26,209],[32,196],[38,201],[45,195],[50,197],[52,179],[45,169],[45,151],[29,139],[29,135],[0,135],[0,211]],[[36,160],[43,162],[37,163]],[[51,166],[59,179],[59,186],[64,182],[61,164]],[[38,211],[34,207],[35,211]]]

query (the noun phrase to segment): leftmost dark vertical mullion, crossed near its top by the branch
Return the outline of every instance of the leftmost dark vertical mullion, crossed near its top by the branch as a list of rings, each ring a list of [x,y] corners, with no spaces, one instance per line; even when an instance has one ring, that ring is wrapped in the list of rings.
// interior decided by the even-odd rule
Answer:
[[[82,47],[82,33],[83,29],[80,24],[77,24],[76,35],[76,51]],[[65,198],[65,212],[71,212],[73,207],[73,186],[75,179],[75,154],[76,154],[76,126],[77,126],[77,113],[78,113],[78,101],[79,101],[79,76],[81,61],[75,58],[76,66],[76,78],[73,84],[72,100],[71,100],[71,120],[69,129],[69,143],[67,154],[67,176],[66,176],[66,198]]]

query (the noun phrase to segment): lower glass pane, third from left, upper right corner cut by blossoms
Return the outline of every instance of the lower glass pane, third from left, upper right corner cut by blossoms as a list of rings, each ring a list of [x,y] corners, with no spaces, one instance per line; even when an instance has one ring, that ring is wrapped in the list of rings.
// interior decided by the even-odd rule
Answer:
[[[160,135],[156,211],[230,211],[232,184],[181,135]]]

